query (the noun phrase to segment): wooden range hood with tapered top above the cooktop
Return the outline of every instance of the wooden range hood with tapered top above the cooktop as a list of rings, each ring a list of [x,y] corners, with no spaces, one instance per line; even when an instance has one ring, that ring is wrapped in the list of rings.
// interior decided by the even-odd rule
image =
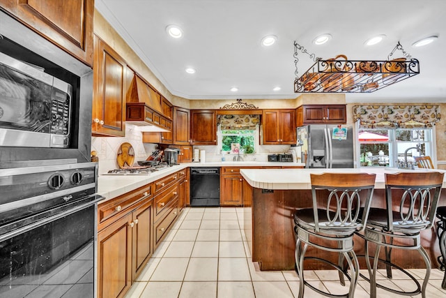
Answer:
[[[171,132],[171,120],[162,115],[160,94],[138,75],[130,83],[126,101],[126,124],[138,126],[144,132]]]

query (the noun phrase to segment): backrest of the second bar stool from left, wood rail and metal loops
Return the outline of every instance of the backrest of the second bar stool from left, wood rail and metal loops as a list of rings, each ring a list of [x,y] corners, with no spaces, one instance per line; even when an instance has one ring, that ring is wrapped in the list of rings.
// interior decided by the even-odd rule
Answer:
[[[443,175],[440,172],[385,174],[385,230],[417,232],[431,228],[443,185]],[[399,215],[395,216],[396,214]]]

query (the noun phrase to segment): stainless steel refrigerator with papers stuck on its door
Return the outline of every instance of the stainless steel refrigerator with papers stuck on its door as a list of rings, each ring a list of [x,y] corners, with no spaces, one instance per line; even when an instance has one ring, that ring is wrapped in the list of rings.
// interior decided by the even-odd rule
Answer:
[[[305,167],[354,167],[351,126],[312,124],[298,127],[298,146]]]

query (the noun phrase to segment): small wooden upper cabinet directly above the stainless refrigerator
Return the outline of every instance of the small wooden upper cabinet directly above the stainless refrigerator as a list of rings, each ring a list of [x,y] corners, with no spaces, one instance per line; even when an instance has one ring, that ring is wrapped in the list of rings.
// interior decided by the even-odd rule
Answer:
[[[346,124],[346,105],[301,105],[297,126],[305,124]]]

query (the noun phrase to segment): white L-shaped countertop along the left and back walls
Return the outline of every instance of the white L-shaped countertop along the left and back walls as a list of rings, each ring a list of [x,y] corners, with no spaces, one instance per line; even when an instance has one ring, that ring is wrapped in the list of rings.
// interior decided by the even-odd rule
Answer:
[[[275,163],[261,161],[220,161],[210,163],[182,163],[174,165],[159,172],[141,175],[105,175],[100,174],[98,177],[98,194],[105,197],[105,200],[116,198],[119,195],[133,191],[136,188],[149,184],[157,179],[166,177],[169,174],[183,170],[186,167],[256,167],[256,166],[303,166],[303,163]],[[279,170],[279,169],[278,169]]]

